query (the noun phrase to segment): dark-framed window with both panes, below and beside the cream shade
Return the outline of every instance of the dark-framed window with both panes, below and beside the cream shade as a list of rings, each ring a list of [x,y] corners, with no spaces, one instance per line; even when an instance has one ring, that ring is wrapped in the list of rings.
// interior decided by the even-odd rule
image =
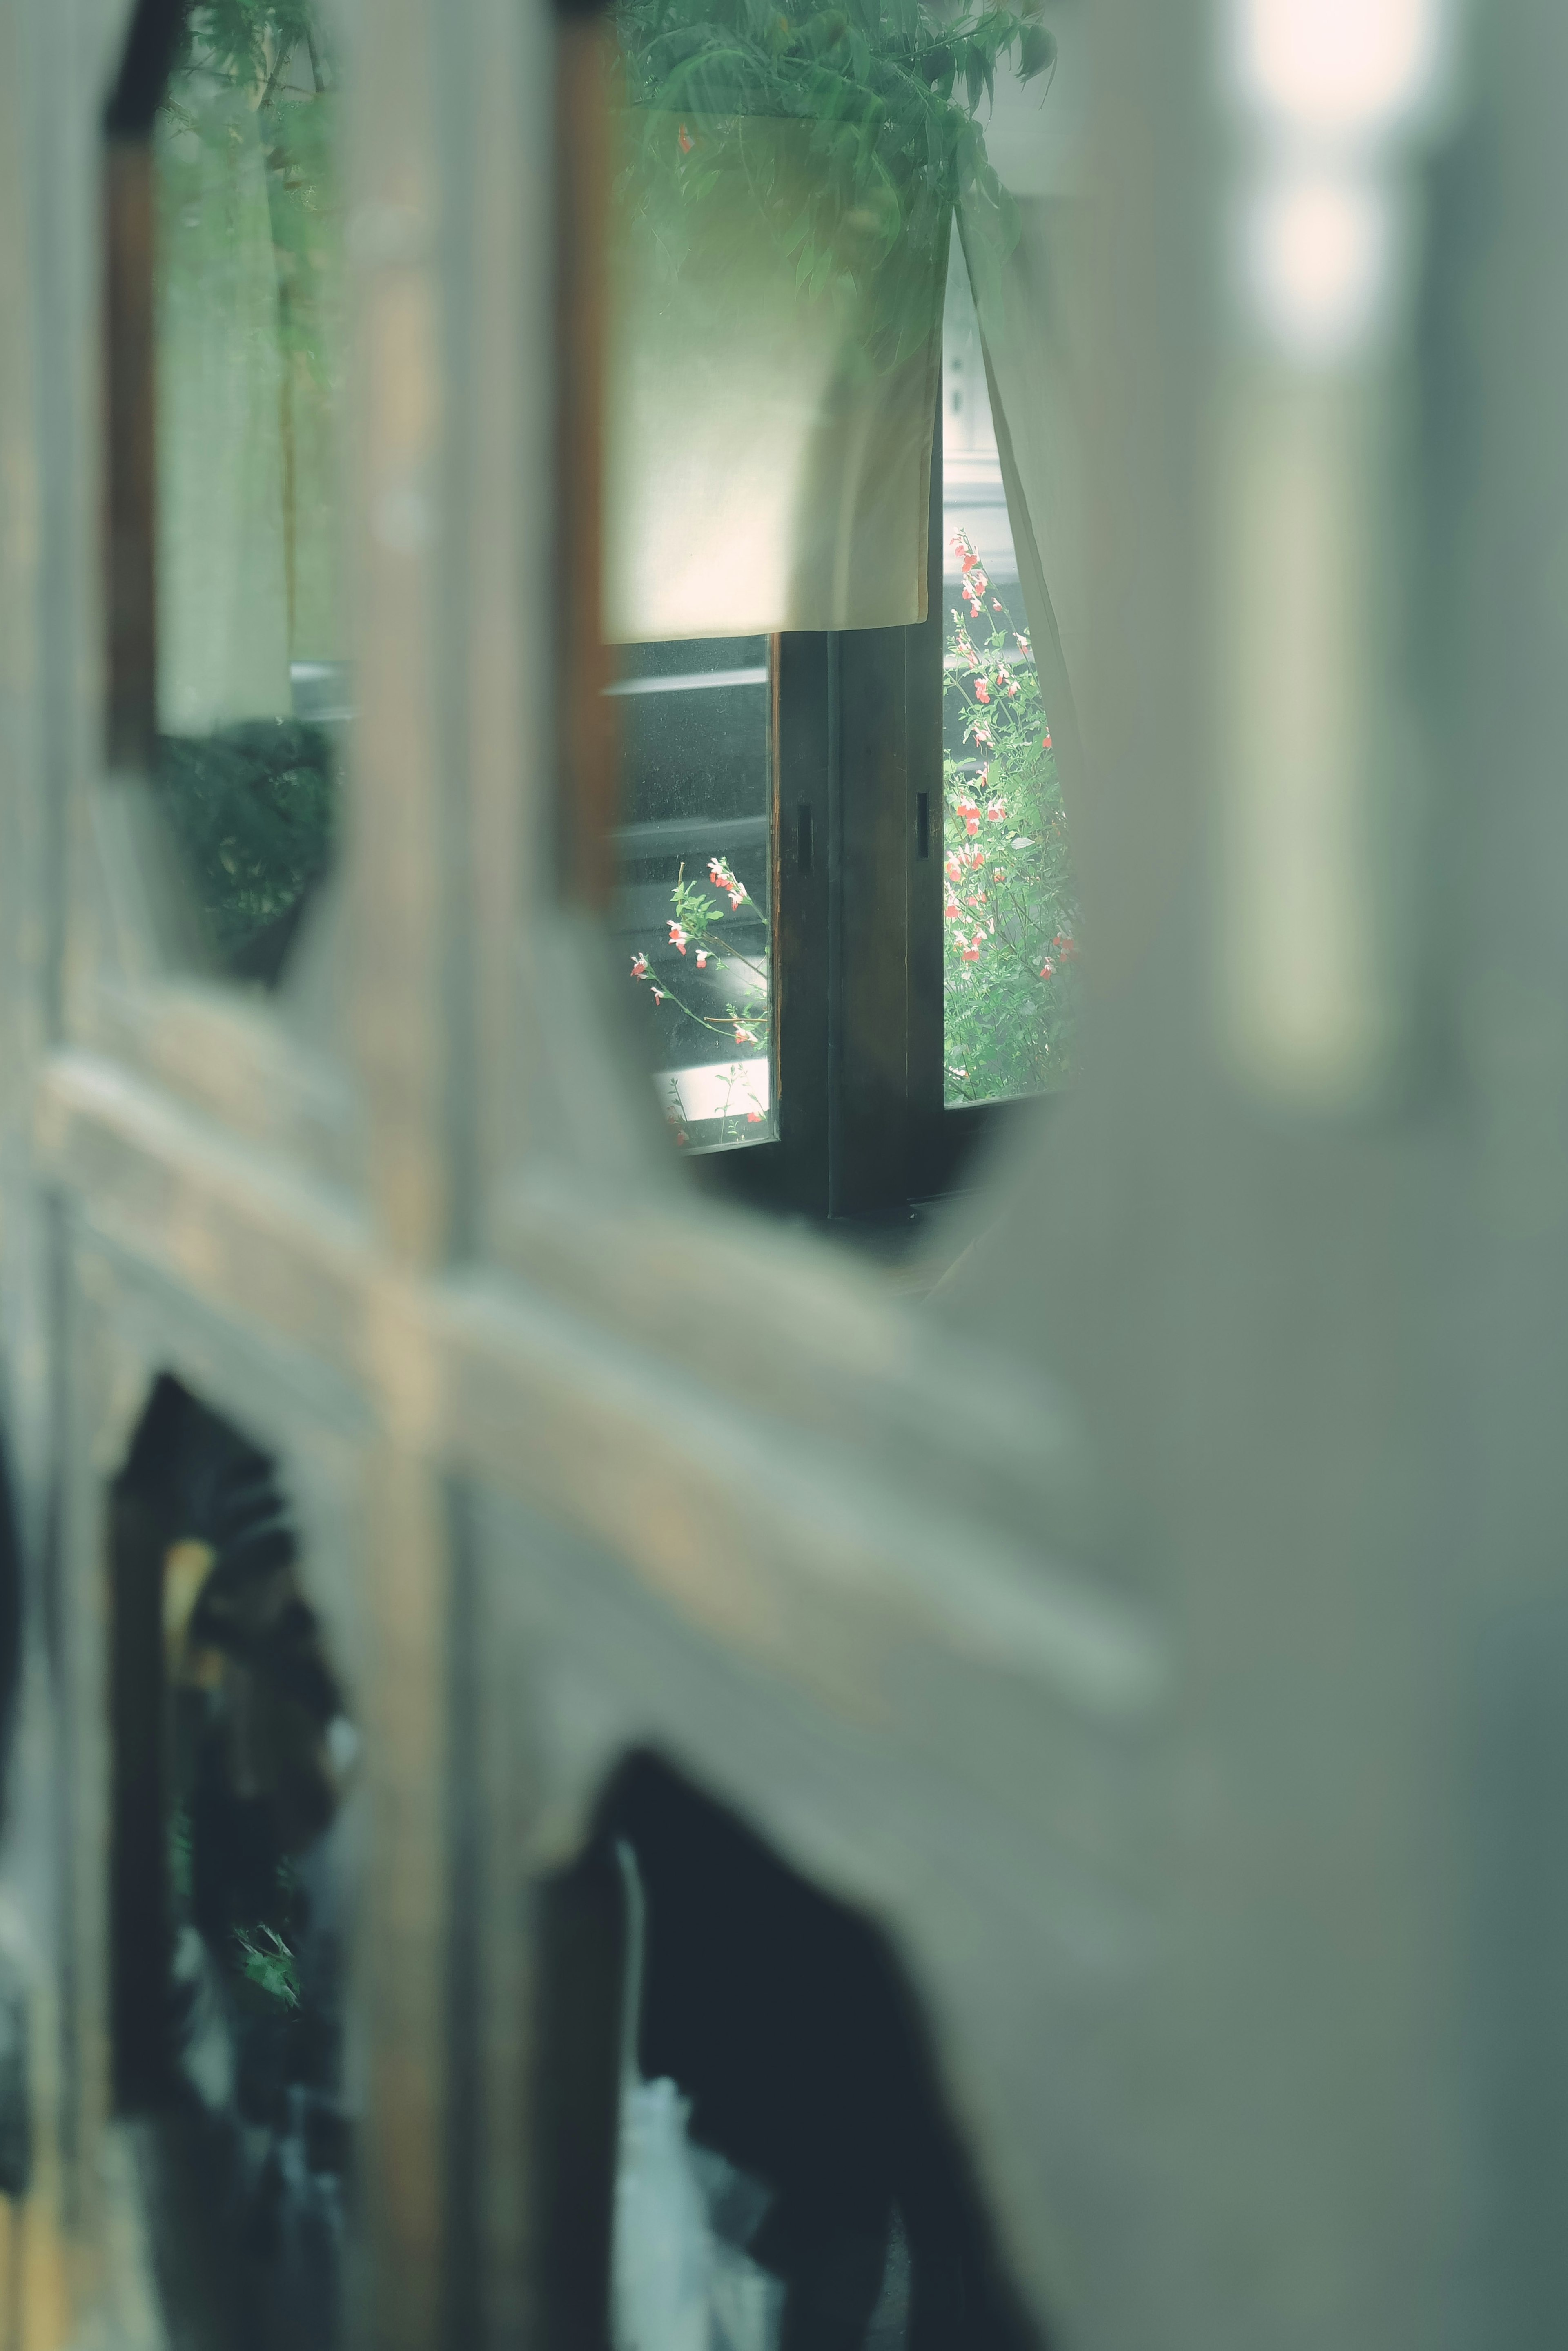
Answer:
[[[910,628],[621,649],[614,950],[703,1178],[907,1223],[1072,1074],[1077,898],[973,299]]]

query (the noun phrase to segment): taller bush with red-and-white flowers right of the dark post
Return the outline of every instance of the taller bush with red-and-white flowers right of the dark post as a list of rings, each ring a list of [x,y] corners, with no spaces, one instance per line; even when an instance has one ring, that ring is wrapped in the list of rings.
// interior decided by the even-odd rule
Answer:
[[[964,531],[943,698],[945,1096],[1044,1093],[1072,1074],[1077,891],[1027,630],[1013,630]]]

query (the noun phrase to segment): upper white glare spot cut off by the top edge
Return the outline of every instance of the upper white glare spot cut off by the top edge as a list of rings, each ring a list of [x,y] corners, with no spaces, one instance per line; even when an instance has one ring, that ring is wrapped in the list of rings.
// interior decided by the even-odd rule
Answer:
[[[1241,87],[1305,132],[1389,129],[1432,94],[1439,14],[1441,0],[1237,0]]]

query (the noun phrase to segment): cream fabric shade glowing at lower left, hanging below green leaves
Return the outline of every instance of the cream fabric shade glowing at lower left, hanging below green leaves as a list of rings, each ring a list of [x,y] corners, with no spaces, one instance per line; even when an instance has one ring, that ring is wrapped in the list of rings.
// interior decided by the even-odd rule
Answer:
[[[604,635],[922,621],[950,223],[882,252],[884,223],[851,214],[811,266],[790,242],[818,169],[811,122],[628,108],[621,139]],[[668,202],[628,200],[649,155],[670,160]],[[696,158],[696,195],[675,158]]]

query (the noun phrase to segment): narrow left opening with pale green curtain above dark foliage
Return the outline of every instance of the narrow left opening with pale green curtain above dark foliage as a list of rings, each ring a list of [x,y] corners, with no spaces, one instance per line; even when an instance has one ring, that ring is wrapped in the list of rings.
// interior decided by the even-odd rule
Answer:
[[[158,113],[158,759],[219,962],[277,978],[346,731],[339,96],[310,0],[197,5]]]

